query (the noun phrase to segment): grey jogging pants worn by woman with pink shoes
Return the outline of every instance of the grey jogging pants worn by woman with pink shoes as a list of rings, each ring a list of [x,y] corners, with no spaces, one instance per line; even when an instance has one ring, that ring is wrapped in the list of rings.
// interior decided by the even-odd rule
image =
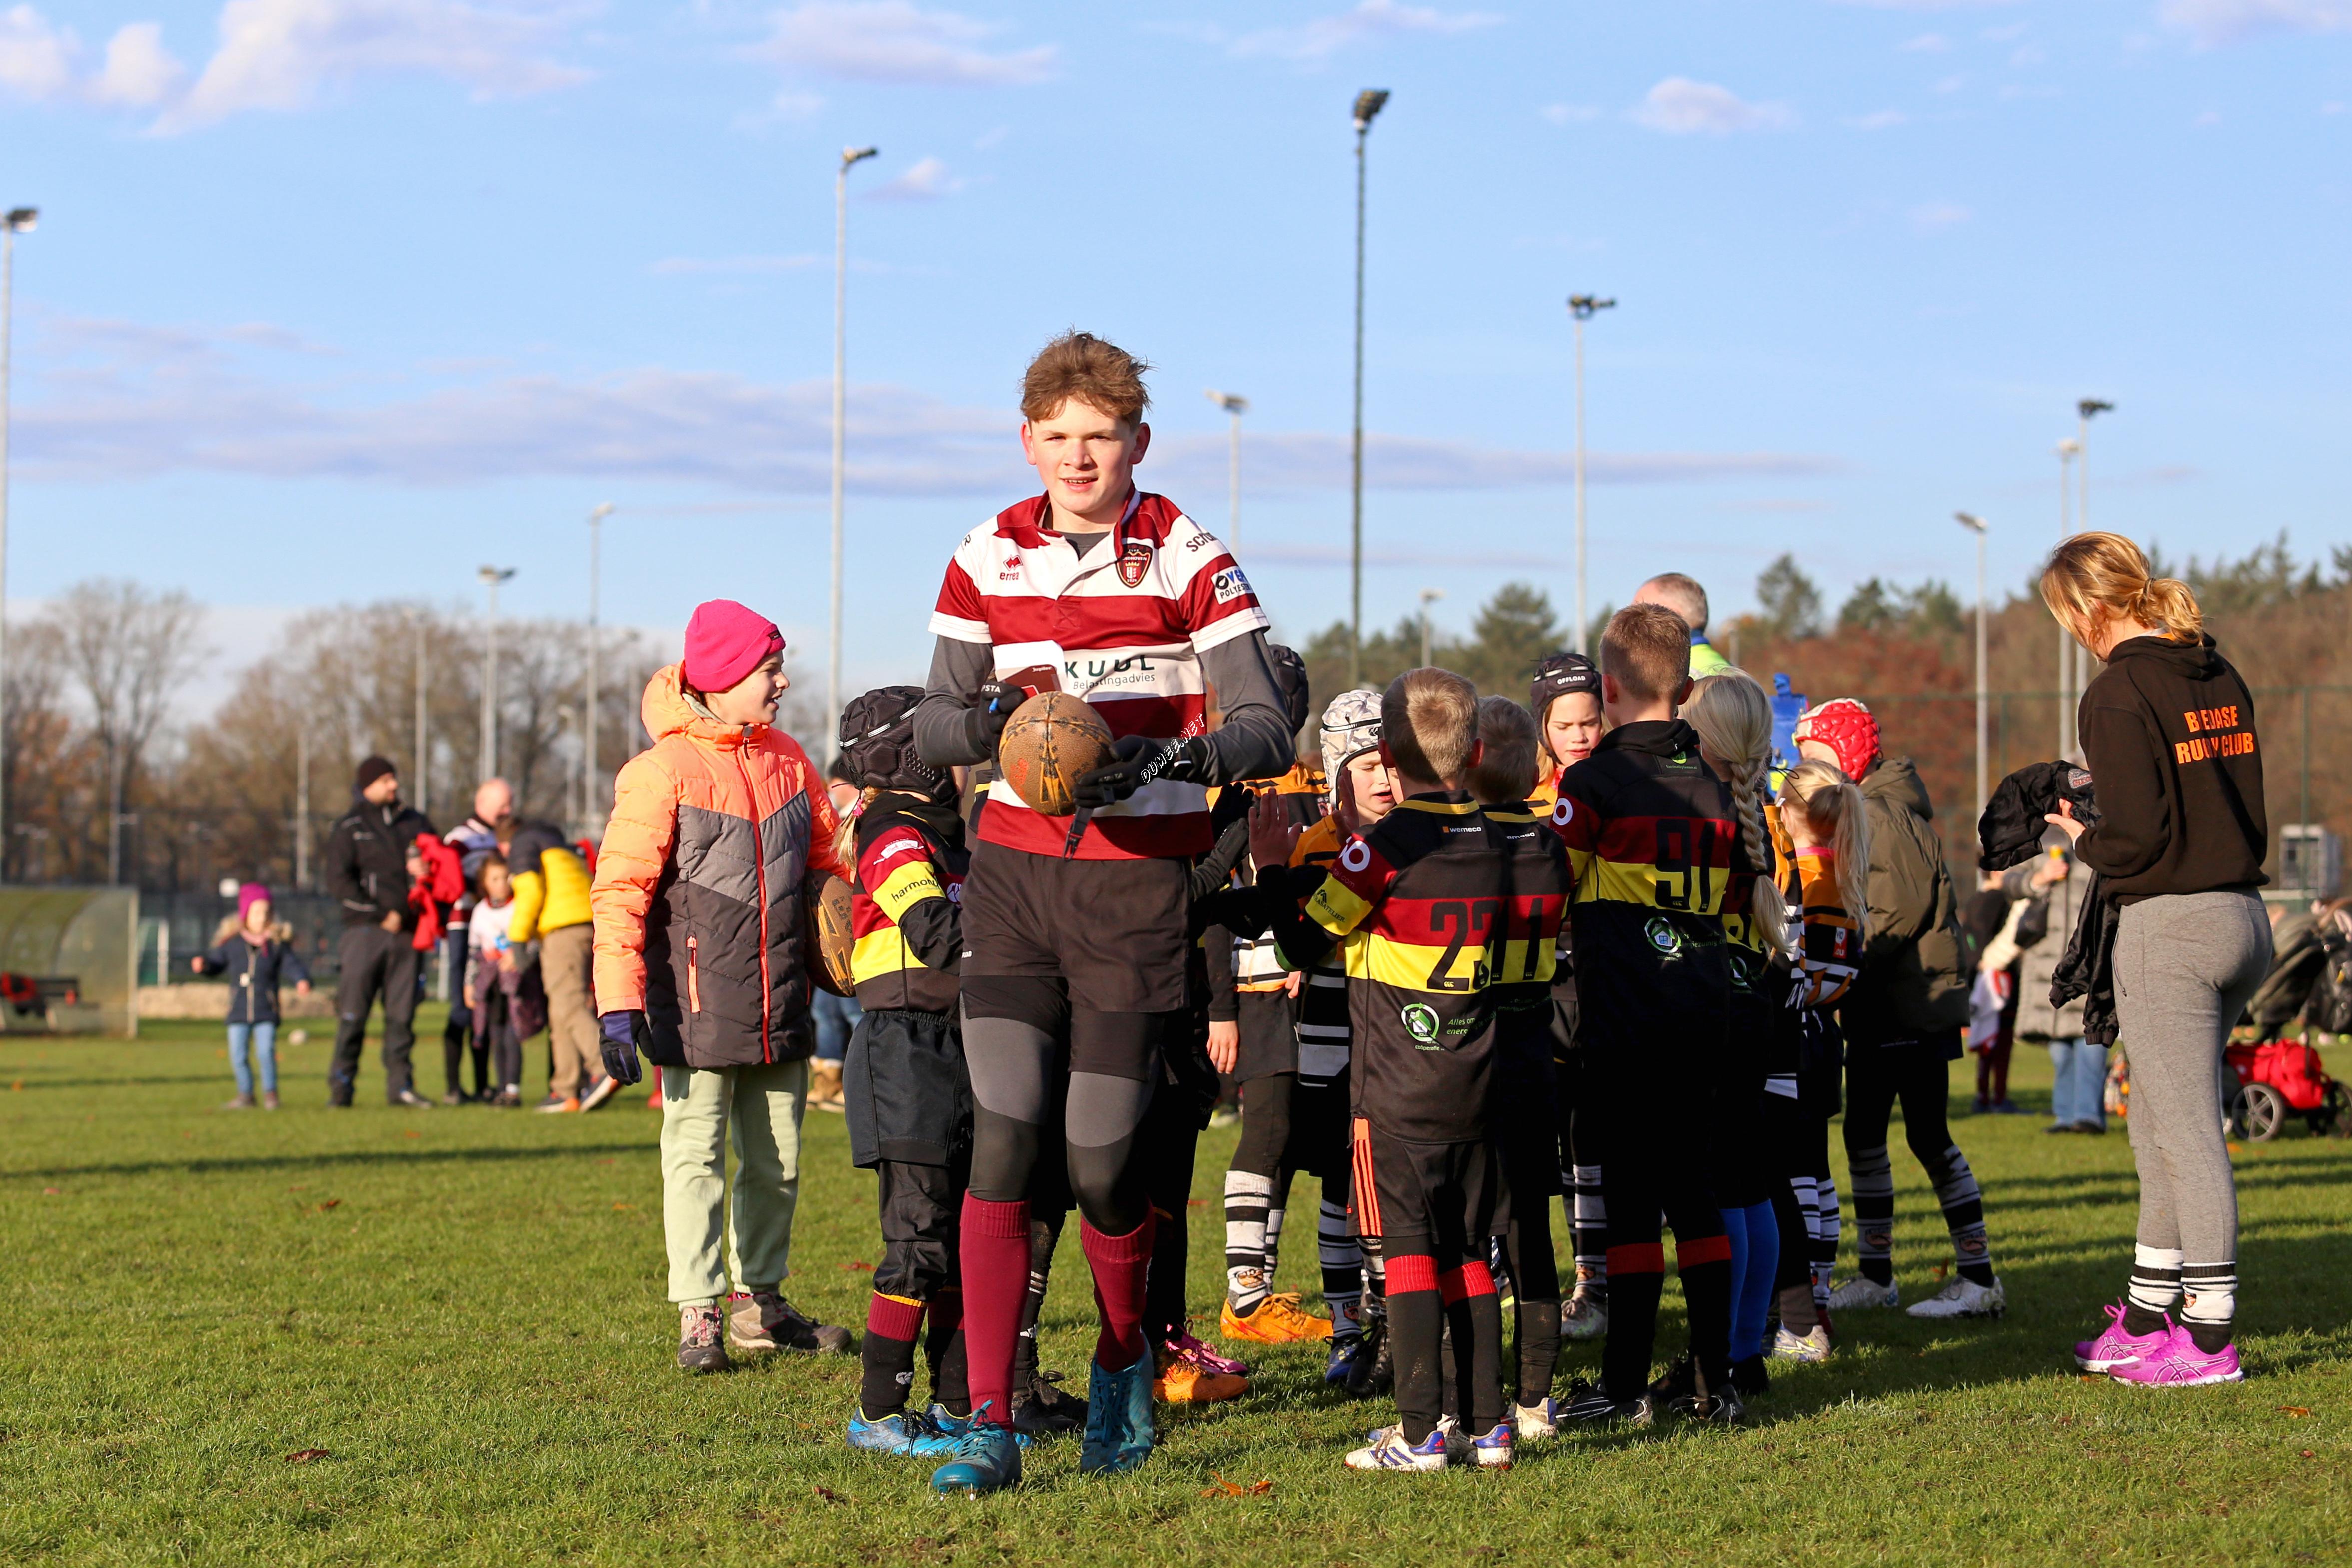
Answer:
[[[2267,969],[2270,919],[2253,893],[2124,905],[2114,1013],[2131,1058],[2126,1126],[2140,1168],[2140,1246],[2178,1248],[2197,1262],[2237,1258],[2220,1048]]]

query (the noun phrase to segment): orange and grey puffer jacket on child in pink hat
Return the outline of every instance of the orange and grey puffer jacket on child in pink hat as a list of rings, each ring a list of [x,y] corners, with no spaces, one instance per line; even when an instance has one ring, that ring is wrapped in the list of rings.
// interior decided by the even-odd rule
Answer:
[[[652,750],[614,780],[597,853],[595,1006],[642,1009],[659,1067],[809,1056],[807,884],[847,875],[833,802],[807,752],[769,724],[722,724],[680,689],[644,689]]]

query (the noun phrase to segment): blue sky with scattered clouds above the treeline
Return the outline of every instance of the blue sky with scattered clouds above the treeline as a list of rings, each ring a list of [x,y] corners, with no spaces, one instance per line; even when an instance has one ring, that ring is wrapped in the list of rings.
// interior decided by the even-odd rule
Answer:
[[[1352,129],[1371,134],[1367,621],[1566,607],[1569,292],[1592,595],[2020,583],[2082,395],[2093,522],[2352,541],[2352,0],[31,0],[12,599],[823,637],[833,160],[854,174],[849,679],[920,670],[957,534],[1025,494],[1014,383],[1077,324],[1160,369],[1145,482],[1277,625],[1345,611]],[[235,632],[230,632],[230,642]],[[235,658],[235,649],[226,651]]]

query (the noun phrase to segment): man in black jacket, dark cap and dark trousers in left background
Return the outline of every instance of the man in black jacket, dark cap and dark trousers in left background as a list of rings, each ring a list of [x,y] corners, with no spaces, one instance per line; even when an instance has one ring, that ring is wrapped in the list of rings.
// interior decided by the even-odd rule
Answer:
[[[383,992],[383,1095],[426,1107],[409,1077],[416,1044],[416,912],[409,907],[409,846],[433,832],[423,813],[400,804],[400,773],[369,757],[350,778],[350,811],[327,835],[327,891],[343,905],[343,978],[336,985],[334,1063],[327,1103],[350,1105],[360,1077],[367,1011]]]

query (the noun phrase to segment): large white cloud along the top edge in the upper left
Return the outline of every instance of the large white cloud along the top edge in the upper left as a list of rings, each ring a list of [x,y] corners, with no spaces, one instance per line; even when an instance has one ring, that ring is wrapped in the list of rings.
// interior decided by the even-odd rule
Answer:
[[[419,73],[513,99],[588,80],[548,59],[579,16],[564,0],[228,0],[221,45],[162,129],[254,108],[306,108],[360,75]]]

